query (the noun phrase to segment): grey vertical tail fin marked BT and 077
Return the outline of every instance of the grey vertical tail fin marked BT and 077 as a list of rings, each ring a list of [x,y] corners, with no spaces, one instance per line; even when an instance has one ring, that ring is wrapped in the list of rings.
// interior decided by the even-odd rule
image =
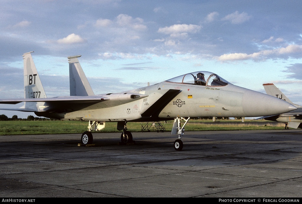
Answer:
[[[47,98],[31,53],[24,53],[24,98]],[[25,102],[25,108],[38,110],[44,102]]]

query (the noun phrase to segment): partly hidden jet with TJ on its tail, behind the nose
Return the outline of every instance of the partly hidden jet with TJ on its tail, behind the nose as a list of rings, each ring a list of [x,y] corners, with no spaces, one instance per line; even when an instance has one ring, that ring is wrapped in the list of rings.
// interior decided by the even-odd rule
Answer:
[[[287,126],[295,129],[302,128],[302,106],[291,102],[291,100],[289,100],[288,97],[286,97],[274,84],[263,84],[263,87],[268,95],[287,101],[288,103],[297,107],[296,110],[288,113],[267,116],[263,118],[265,120],[285,123],[285,129],[287,128]]]

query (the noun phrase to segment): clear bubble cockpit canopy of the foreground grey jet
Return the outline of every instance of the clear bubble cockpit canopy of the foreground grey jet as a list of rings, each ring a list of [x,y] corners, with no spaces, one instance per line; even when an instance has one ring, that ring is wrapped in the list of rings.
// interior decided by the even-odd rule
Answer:
[[[201,86],[226,86],[230,82],[212,72],[192,72],[167,80],[181,84],[195,84]]]

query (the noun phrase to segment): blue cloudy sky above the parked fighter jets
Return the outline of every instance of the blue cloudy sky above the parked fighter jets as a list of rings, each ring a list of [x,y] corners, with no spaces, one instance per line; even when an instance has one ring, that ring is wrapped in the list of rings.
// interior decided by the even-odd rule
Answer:
[[[22,54],[34,51],[47,97],[69,95],[67,57],[82,55],[95,94],[209,71],[263,93],[274,83],[302,105],[301,8],[299,0],[1,0],[0,98],[24,97]]]

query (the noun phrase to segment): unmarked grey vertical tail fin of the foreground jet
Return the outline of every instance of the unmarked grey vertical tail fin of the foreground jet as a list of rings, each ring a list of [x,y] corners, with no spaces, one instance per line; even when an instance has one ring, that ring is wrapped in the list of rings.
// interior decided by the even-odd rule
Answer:
[[[70,96],[93,96],[92,88],[78,60],[80,56],[68,57]]]

